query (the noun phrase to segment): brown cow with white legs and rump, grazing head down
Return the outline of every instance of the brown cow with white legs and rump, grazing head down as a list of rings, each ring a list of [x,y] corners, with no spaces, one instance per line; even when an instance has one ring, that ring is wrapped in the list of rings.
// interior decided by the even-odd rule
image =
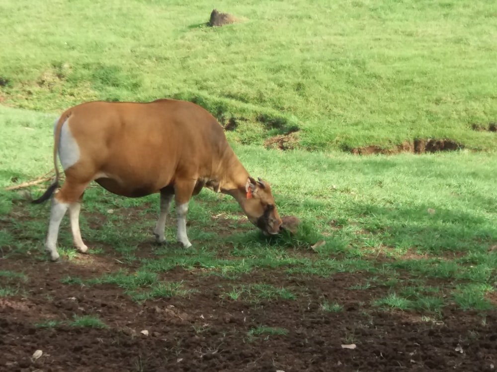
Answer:
[[[202,187],[233,196],[249,221],[264,233],[280,230],[269,184],[249,176],[223,127],[191,102],[87,102],[61,115],[54,136],[55,182],[33,201],[47,200],[58,188],[59,154],[66,180],[52,200],[46,241],[52,260],[59,258],[59,226],[68,209],[74,244],[80,252],[88,249],[81,238],[79,215],[84,189],[91,181],[127,197],[160,192],[154,229],[159,243],[166,241],[166,216],[174,195],[177,240],[185,248],[191,246],[186,235],[188,201]]]

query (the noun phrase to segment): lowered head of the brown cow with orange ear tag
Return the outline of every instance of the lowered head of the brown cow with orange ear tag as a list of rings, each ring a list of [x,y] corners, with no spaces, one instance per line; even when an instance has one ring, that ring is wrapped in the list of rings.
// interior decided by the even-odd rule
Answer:
[[[244,203],[248,220],[261,229],[264,234],[277,234],[281,227],[281,218],[276,210],[271,187],[260,178],[255,181],[249,177],[247,185],[247,200]]]

